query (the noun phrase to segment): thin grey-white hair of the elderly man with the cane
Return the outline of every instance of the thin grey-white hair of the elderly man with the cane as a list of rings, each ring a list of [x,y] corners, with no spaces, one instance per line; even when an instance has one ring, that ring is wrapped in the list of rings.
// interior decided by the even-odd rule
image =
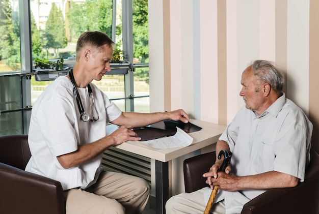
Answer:
[[[273,63],[267,60],[255,60],[252,64],[252,72],[261,81],[269,83],[276,92],[282,91],[285,79]]]

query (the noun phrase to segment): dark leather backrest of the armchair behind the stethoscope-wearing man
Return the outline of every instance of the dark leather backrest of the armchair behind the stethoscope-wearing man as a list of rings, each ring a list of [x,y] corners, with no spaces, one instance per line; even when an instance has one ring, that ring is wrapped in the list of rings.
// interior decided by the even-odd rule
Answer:
[[[28,135],[0,136],[0,162],[24,170],[30,158]]]

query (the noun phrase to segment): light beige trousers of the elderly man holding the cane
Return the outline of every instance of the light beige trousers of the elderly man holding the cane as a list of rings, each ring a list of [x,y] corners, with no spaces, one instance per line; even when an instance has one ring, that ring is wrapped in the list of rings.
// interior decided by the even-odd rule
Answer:
[[[206,208],[203,190],[175,195],[166,202],[165,207],[168,214],[202,214]],[[210,213],[225,214],[224,200],[213,204]]]

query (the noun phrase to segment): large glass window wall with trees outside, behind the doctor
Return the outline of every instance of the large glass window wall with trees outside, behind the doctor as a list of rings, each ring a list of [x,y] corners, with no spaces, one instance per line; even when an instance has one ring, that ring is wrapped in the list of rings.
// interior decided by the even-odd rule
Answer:
[[[105,75],[95,84],[123,111],[149,112],[147,0],[1,0],[1,4],[0,127],[7,129],[0,135],[28,133],[32,104],[51,83],[36,80],[33,59],[63,57],[72,67],[77,38],[86,30],[107,33],[131,62],[128,74]]]

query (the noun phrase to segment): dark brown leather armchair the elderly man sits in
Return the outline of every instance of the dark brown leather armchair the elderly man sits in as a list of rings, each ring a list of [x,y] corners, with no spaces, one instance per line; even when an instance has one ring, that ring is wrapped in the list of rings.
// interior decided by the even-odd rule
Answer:
[[[310,151],[310,164],[305,181],[294,188],[270,189],[244,205],[242,214],[319,213],[319,155]],[[185,192],[207,187],[201,175],[215,163],[216,155],[209,152],[184,160]]]

